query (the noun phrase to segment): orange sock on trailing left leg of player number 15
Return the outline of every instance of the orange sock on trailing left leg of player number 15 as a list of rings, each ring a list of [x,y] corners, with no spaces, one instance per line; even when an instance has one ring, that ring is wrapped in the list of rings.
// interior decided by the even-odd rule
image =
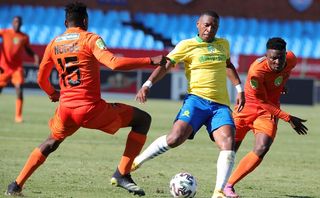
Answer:
[[[35,148],[25,163],[19,176],[16,179],[17,184],[22,187],[31,174],[46,160],[39,148]]]

